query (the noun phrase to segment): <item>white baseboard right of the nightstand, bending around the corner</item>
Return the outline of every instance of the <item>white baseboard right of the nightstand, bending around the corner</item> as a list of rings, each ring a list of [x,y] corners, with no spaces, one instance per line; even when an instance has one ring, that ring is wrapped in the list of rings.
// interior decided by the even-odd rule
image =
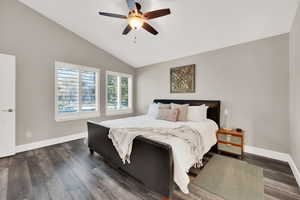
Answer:
[[[263,157],[267,157],[267,158],[280,160],[283,162],[287,162],[292,169],[292,172],[295,176],[298,186],[300,187],[300,171],[296,167],[294,160],[292,159],[292,157],[289,154],[272,151],[272,150],[267,150],[267,149],[263,149],[263,148],[257,148],[257,147],[253,147],[253,146],[245,146],[245,152],[255,154],[258,156],[263,156]]]

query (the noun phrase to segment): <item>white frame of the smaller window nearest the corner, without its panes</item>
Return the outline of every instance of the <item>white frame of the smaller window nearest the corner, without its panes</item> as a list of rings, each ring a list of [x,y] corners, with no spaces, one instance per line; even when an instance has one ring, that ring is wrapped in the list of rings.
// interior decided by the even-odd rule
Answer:
[[[121,78],[126,77],[128,78],[128,108],[125,109],[116,109],[116,110],[110,110],[108,109],[108,76],[117,76],[118,77],[118,107],[120,106],[121,102]],[[132,99],[133,99],[133,75],[132,74],[125,74],[125,73],[120,73],[120,72],[113,72],[113,71],[106,71],[106,81],[105,81],[105,91],[106,91],[106,100],[105,100],[105,110],[106,110],[106,115],[107,116],[112,116],[112,115],[124,115],[124,114],[131,114],[133,113],[132,109]]]

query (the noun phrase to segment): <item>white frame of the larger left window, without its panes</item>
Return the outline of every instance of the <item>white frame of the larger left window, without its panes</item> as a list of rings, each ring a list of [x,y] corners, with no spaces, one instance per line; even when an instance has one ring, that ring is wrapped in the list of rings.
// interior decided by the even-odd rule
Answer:
[[[96,73],[96,91],[95,91],[95,98],[96,98],[96,111],[81,111],[81,76],[79,75],[79,104],[78,104],[78,112],[76,113],[59,113],[58,112],[58,82],[57,82],[57,69],[72,69],[72,70],[79,70],[81,74],[83,71],[87,72],[95,72]],[[82,65],[76,65],[71,63],[65,63],[60,61],[55,61],[55,121],[63,122],[63,121],[71,121],[71,120],[80,120],[80,119],[88,119],[88,118],[95,118],[100,117],[100,72],[101,70],[94,67],[87,67]]]

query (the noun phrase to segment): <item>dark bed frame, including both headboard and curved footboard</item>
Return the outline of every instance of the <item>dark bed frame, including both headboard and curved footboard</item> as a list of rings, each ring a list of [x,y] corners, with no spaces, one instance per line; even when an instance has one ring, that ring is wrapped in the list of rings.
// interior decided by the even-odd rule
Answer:
[[[220,125],[220,101],[155,99],[153,102],[189,104],[190,106],[205,104],[209,106],[207,118]],[[124,165],[111,140],[108,138],[109,128],[92,121],[87,122],[87,125],[88,146],[91,154],[97,152],[106,162],[130,174],[150,190],[163,195],[164,199],[172,198],[174,169],[170,145],[139,136],[133,141],[133,149],[130,156],[131,163]],[[216,145],[212,150],[216,151]]]

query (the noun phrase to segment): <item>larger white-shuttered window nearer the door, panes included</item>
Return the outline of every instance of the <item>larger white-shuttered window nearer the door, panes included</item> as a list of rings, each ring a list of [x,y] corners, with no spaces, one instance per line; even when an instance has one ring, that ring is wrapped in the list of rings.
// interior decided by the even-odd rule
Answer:
[[[99,69],[55,62],[55,119],[100,116]]]

